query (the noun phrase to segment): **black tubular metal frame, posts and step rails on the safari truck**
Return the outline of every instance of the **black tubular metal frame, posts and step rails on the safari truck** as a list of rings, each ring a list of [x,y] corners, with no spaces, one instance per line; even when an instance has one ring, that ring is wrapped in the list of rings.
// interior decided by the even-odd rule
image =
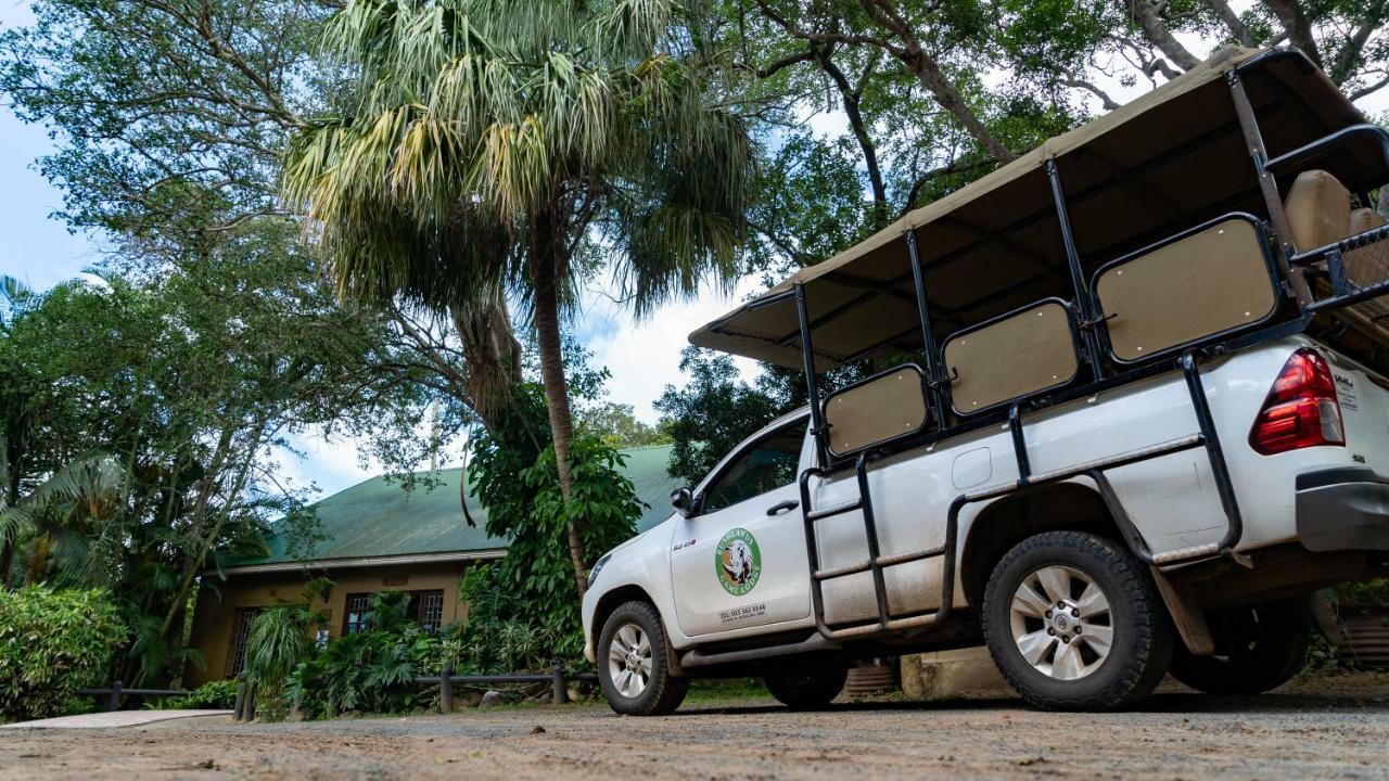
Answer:
[[[1292,51],[1274,51],[1267,56],[1301,57],[1301,54]],[[947,420],[949,410],[951,409],[951,378],[946,372],[943,356],[936,349],[935,335],[931,328],[932,321],[921,260],[917,250],[915,232],[913,229],[907,229],[904,238],[907,243],[908,260],[911,263],[911,281],[915,292],[917,314],[921,320],[921,352],[925,363],[925,370],[921,371],[922,392],[925,395],[928,409],[932,413],[935,431],[928,431],[924,435],[920,432],[910,432],[888,442],[879,442],[871,449],[857,453],[857,457],[853,460],[853,468],[856,472],[858,498],[851,502],[826,509],[815,509],[811,504],[811,481],[838,472],[839,470],[847,467],[849,461],[846,459],[832,459],[832,453],[826,445],[829,427],[825,422],[820,386],[815,377],[815,352],[811,345],[814,324],[808,315],[803,285],[795,283],[790,290],[785,290],[776,296],[764,297],[756,304],[761,307],[786,300],[795,300],[800,320],[799,338],[806,367],[806,384],[811,414],[810,434],[814,438],[818,459],[815,467],[801,472],[799,488],[801,498],[800,507],[806,525],[806,546],[810,560],[813,607],[815,613],[815,624],[821,635],[831,639],[872,638],[875,635],[885,635],[906,630],[921,630],[933,624],[940,624],[950,617],[954,603],[954,581],[958,557],[958,523],[963,509],[972,503],[988,502],[1006,495],[1025,493],[1049,484],[1063,482],[1078,477],[1083,477],[1095,482],[1101,500],[1118,524],[1128,548],[1146,564],[1172,566],[1214,556],[1224,556],[1233,561],[1246,566],[1249,564],[1249,560],[1236,552],[1236,548],[1243,536],[1243,518],[1240,516],[1235,488],[1231,482],[1224,450],[1221,449],[1220,436],[1215,431],[1210,403],[1201,384],[1199,360],[1228,354],[1238,349],[1303,332],[1313,324],[1317,315],[1347,307],[1356,307],[1361,314],[1365,314],[1365,310],[1370,310],[1367,317],[1370,317],[1374,324],[1389,329],[1389,299],[1385,302],[1374,302],[1374,299],[1379,299],[1381,296],[1389,296],[1389,225],[1365,231],[1360,235],[1350,236],[1324,247],[1297,253],[1290,240],[1292,231],[1283,211],[1283,203],[1278,192],[1276,182],[1276,175],[1279,172],[1288,172],[1314,161],[1320,156],[1329,154],[1331,150],[1335,150],[1335,147],[1346,145],[1350,139],[1363,138],[1365,133],[1374,136],[1383,150],[1386,160],[1389,160],[1389,132],[1374,125],[1356,125],[1270,160],[1253,106],[1250,104],[1240,81],[1242,71],[1249,68],[1251,64],[1253,61],[1229,74],[1229,88],[1233,97],[1235,114],[1250,150],[1250,156],[1258,175],[1258,185],[1268,207],[1268,227],[1272,229],[1274,236],[1279,242],[1279,252],[1271,253],[1272,257],[1265,258],[1276,268],[1276,274],[1271,274],[1270,282],[1278,286],[1279,277],[1286,279],[1288,285],[1292,288],[1293,296],[1296,297],[1296,317],[1290,317],[1283,321],[1275,321],[1276,318],[1270,317],[1264,321],[1251,322],[1247,327],[1188,342],[1174,349],[1174,352],[1183,350],[1178,357],[1175,357],[1175,360],[1172,353],[1164,353],[1140,361],[1118,361],[1120,365],[1117,367],[1117,371],[1111,370],[1111,367],[1107,365],[1107,361],[1114,359],[1114,356],[1111,350],[1107,350],[1107,321],[1100,310],[1096,292],[1090,286],[1085,285],[1083,267],[1076,250],[1074,233],[1071,231],[1071,221],[1067,213],[1067,196],[1061,183],[1060,170],[1056,160],[1046,161],[1045,168],[1051,188],[1056,215],[1065,250],[1067,267],[1071,277],[1074,292],[1072,302],[1075,313],[1081,321],[1078,324],[1079,328],[1072,329],[1072,339],[1076,342],[1076,354],[1083,361],[1089,377],[1082,379],[1078,375],[1076,381],[1065,388],[1047,389],[1045,392],[1017,397],[1011,402],[1007,413],[1007,425],[1011,431],[1014,456],[1017,459],[1017,479],[979,491],[965,492],[957,496],[950,504],[946,520],[945,539],[942,545],[936,548],[890,556],[882,554],[876,529],[878,518],[875,516],[874,502],[870,492],[868,468],[875,461],[893,453],[910,447],[924,446],[928,442],[938,442],[985,425],[996,425],[1000,416],[979,414],[968,420],[957,420],[954,424]],[[1365,193],[1358,195],[1361,200],[1367,197]],[[1263,231],[1263,227],[1260,227],[1260,231]],[[1174,236],[1167,242],[1175,240],[1176,238],[1181,238],[1181,235]],[[1160,242],[1154,246],[1161,246],[1163,243],[1165,242]],[[1370,258],[1371,265],[1375,270],[1381,270],[1382,267],[1382,272],[1371,274],[1370,277],[1374,277],[1374,279],[1368,281],[1365,279],[1367,275],[1364,274],[1363,267],[1367,260],[1365,256],[1356,257],[1356,260],[1361,263],[1357,268],[1347,270],[1346,264],[1346,256],[1351,253],[1364,253],[1367,250],[1383,253],[1382,258]],[[1356,279],[1351,271],[1358,271],[1360,278]],[[1307,282],[1308,275],[1324,275],[1328,279],[1331,290],[1329,297],[1315,299],[1311,295],[1311,286]],[[895,283],[896,281],[889,282],[889,285]],[[1382,313],[1381,309],[1374,309],[1370,304],[1382,304]],[[850,356],[846,363],[851,363],[858,356]],[[920,367],[917,368],[920,370]],[[1160,442],[1147,447],[1140,447],[1138,450],[1106,456],[1103,459],[1081,464],[1072,464],[1058,470],[1046,472],[1032,471],[1028,459],[1026,438],[1024,436],[1024,410],[1065,403],[1172,370],[1179,370],[1183,374],[1197,422],[1197,431],[1195,434]],[[929,428],[932,427],[928,427],[928,429]],[[1221,535],[1218,542],[1154,554],[1129,518],[1128,513],[1124,510],[1122,502],[1118,499],[1118,495],[1106,477],[1106,472],[1120,467],[1160,459],[1174,453],[1195,450],[1199,447],[1206,450],[1210,461],[1211,475],[1226,520],[1225,532]],[[820,566],[817,524],[826,518],[853,511],[863,513],[868,557],[851,566],[822,570]],[[890,610],[892,600],[889,599],[886,589],[885,570],[935,557],[943,559],[939,607],[907,614],[893,614]],[[861,573],[872,573],[874,596],[878,613],[876,620],[838,627],[826,624],[824,584]]]

